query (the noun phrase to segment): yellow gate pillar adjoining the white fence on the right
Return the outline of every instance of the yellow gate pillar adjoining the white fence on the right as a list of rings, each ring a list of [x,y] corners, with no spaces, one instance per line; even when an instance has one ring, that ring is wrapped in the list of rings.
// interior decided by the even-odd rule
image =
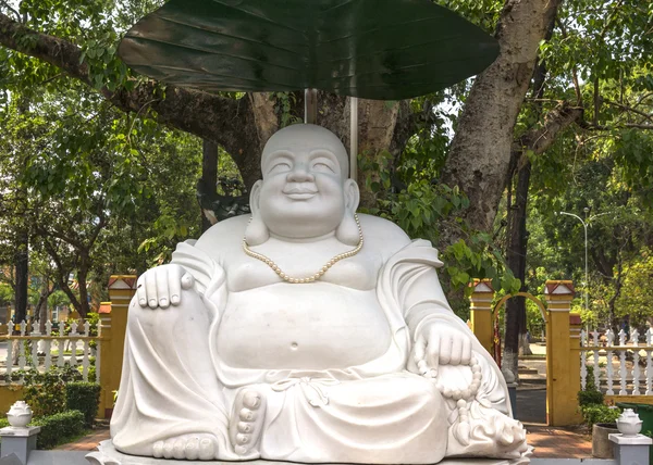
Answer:
[[[580,356],[572,348],[579,347],[571,316],[574,284],[567,280],[549,280],[544,289],[549,317],[546,321],[546,422],[550,426],[577,425],[582,422],[578,413],[577,393],[580,389]]]

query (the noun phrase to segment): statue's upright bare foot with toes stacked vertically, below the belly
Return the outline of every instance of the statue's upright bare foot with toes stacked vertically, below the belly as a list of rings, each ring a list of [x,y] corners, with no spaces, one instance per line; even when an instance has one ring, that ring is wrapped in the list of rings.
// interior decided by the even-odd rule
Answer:
[[[266,398],[259,391],[243,389],[238,392],[229,426],[236,454],[243,456],[258,452],[264,415]]]

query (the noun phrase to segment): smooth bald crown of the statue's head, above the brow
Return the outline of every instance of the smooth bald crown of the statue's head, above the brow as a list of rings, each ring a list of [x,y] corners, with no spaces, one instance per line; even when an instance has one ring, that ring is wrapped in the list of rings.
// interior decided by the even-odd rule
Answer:
[[[349,174],[349,156],[347,155],[345,146],[343,146],[343,142],[335,134],[315,124],[295,124],[287,126],[275,133],[268,140],[261,155],[261,171],[263,173],[263,178],[267,173],[267,162],[271,154],[280,151],[295,153],[305,150],[325,150],[333,153],[340,164],[343,181],[347,179]]]

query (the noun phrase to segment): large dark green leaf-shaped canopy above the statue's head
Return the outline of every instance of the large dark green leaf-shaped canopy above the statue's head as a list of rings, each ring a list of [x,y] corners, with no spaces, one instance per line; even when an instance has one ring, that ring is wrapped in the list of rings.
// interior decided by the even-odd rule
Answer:
[[[207,92],[379,100],[449,87],[497,53],[494,38],[429,0],[171,0],[120,46],[137,73]]]

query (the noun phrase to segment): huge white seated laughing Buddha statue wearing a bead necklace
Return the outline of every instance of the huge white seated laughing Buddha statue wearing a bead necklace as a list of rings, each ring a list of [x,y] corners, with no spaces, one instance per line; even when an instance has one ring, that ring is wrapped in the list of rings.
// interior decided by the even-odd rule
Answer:
[[[181,243],[130,305],[111,436],[177,460],[527,461],[506,385],[442,292],[438,251],[356,215],[332,133],[262,154],[252,216]]]

